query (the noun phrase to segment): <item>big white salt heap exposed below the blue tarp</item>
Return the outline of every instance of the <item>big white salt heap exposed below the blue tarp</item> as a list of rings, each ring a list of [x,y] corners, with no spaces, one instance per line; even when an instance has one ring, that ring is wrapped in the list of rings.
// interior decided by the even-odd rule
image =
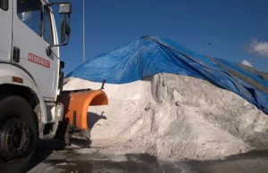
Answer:
[[[64,89],[100,86],[70,78]],[[213,160],[268,149],[268,115],[205,80],[164,73],[129,84],[105,84],[105,93],[108,106],[88,109],[98,114],[90,113],[88,123],[99,119],[91,132],[93,146],[148,152],[162,160]]]

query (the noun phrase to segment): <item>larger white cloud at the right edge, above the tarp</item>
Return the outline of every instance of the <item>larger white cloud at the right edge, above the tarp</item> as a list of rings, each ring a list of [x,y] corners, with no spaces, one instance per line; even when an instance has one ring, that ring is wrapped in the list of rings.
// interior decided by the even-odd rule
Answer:
[[[256,54],[263,58],[268,58],[268,42],[258,41],[254,39],[249,45],[249,53]]]

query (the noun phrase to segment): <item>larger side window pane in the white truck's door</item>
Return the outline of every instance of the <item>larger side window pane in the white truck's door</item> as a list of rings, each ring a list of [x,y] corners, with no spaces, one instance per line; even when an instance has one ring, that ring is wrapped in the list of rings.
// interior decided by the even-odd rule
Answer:
[[[17,0],[17,14],[30,29],[42,37],[42,4],[38,0]]]

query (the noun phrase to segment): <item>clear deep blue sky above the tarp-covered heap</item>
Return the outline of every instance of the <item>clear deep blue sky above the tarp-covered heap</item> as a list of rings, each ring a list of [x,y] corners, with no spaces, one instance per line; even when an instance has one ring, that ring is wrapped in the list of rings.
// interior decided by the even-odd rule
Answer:
[[[268,42],[268,1],[136,0],[86,2],[86,58],[142,36],[166,37],[230,62],[247,60],[268,72],[268,57],[249,54],[252,40]],[[71,43],[61,47],[65,73],[82,63],[82,0],[71,0]],[[205,45],[212,42],[212,45]]]

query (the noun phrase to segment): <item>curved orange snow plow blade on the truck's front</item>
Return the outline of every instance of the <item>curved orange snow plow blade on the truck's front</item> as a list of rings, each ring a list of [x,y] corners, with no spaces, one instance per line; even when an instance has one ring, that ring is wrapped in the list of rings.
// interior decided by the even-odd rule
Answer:
[[[88,107],[107,105],[108,98],[102,90],[74,90],[63,91],[59,96],[59,102],[64,105],[63,118],[69,124],[88,130]]]

